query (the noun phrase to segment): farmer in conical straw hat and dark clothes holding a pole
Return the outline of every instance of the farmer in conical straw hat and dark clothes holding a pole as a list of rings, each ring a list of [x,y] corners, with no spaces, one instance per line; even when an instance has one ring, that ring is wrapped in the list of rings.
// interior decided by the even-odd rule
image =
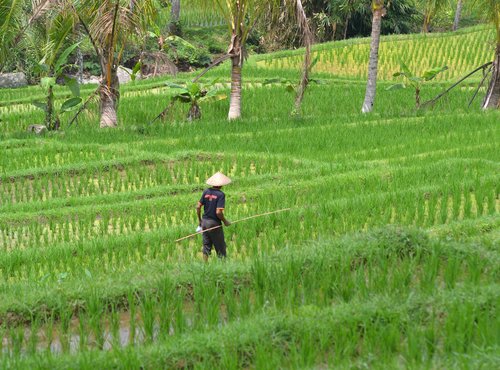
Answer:
[[[221,189],[229,183],[231,183],[229,177],[221,172],[217,172],[207,180],[210,188],[203,191],[201,199],[196,206],[199,225],[203,230],[220,226],[215,230],[203,233],[203,259],[205,261],[208,261],[208,256],[212,252],[212,246],[215,247],[219,258],[226,257],[226,242],[224,240],[224,230],[222,230],[221,225],[224,223],[225,226],[229,226],[231,222],[224,217],[226,195]],[[201,207],[204,207],[203,217],[201,216]]]

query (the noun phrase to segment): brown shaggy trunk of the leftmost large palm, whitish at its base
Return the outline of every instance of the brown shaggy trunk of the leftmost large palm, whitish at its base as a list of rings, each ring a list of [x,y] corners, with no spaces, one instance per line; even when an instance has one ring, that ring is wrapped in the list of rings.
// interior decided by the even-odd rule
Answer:
[[[108,65],[107,53],[103,53],[101,60],[102,79],[99,88],[100,96],[100,127],[117,126],[117,108],[120,99],[120,82],[117,75],[117,67]]]

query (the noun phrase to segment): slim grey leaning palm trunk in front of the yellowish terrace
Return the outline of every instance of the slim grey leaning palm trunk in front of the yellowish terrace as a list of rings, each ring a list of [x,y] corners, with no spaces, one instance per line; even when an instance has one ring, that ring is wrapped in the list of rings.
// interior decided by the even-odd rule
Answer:
[[[372,35],[370,44],[370,61],[368,63],[368,81],[366,84],[365,101],[363,102],[363,113],[369,113],[373,110],[375,104],[375,95],[377,90],[377,72],[378,72],[378,49],[380,46],[380,30],[382,28],[382,17],[385,14],[385,8],[378,5],[373,9]]]

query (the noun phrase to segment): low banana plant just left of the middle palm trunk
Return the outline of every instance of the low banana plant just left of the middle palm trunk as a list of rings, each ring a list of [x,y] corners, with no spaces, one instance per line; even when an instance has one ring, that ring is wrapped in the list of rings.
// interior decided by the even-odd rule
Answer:
[[[179,84],[167,82],[166,85],[175,91],[175,94],[171,98],[169,109],[176,102],[183,104],[189,104],[189,111],[187,114],[187,119],[193,121],[201,118],[201,103],[207,103],[211,101],[219,101],[227,98],[225,93],[221,93],[220,89],[216,87],[217,81],[213,81],[209,84],[203,85],[201,83],[189,82],[186,86]],[[163,116],[165,111],[162,112]]]

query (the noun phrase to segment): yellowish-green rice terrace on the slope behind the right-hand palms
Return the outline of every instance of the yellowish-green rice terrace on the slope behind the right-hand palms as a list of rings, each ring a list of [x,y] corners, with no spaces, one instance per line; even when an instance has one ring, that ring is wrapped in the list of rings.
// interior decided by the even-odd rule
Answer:
[[[433,67],[448,66],[437,77],[441,81],[455,80],[493,59],[495,35],[493,29],[478,26],[456,34],[402,35],[382,39],[379,50],[379,77],[393,80],[403,61],[411,71],[421,74]],[[365,79],[368,70],[370,39],[351,39],[316,46],[312,53],[318,63],[315,72],[337,77]],[[302,64],[299,52],[280,52],[257,61],[261,68],[297,69]]]

